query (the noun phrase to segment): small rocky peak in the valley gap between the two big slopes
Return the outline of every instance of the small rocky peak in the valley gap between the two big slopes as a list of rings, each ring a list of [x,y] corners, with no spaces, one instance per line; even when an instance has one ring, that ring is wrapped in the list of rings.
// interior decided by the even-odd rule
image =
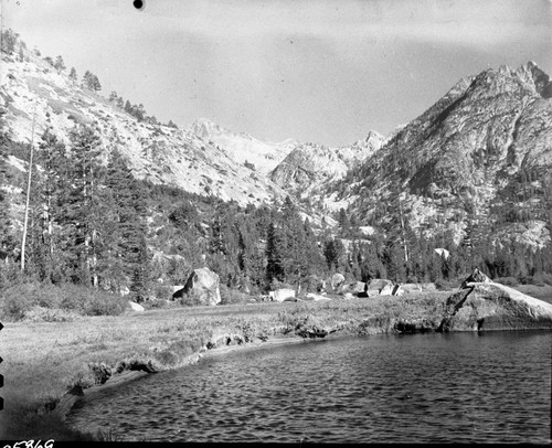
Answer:
[[[381,135],[370,131],[364,140],[346,147],[299,145],[270,172],[270,180],[300,198],[314,198],[322,185],[373,156],[382,141]]]

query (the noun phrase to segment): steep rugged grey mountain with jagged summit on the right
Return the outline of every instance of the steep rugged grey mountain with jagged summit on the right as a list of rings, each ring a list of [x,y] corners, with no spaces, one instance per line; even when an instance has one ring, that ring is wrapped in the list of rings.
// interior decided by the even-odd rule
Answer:
[[[458,82],[341,182],[340,199],[391,228],[399,210],[417,232],[476,227],[533,247],[550,242],[551,83],[534,63]]]

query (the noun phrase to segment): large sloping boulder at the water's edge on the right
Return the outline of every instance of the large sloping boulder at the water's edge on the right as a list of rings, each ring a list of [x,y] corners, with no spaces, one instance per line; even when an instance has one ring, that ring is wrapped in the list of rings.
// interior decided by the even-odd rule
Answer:
[[[552,329],[551,303],[500,284],[468,287],[447,299],[439,331]]]

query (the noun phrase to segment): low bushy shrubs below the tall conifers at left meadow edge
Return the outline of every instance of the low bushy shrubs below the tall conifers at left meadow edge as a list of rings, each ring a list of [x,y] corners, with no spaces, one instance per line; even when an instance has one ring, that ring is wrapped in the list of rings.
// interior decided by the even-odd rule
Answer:
[[[66,284],[24,282],[0,295],[0,320],[67,321],[77,316],[118,316],[127,300],[107,291]],[[45,310],[61,310],[57,313]]]

